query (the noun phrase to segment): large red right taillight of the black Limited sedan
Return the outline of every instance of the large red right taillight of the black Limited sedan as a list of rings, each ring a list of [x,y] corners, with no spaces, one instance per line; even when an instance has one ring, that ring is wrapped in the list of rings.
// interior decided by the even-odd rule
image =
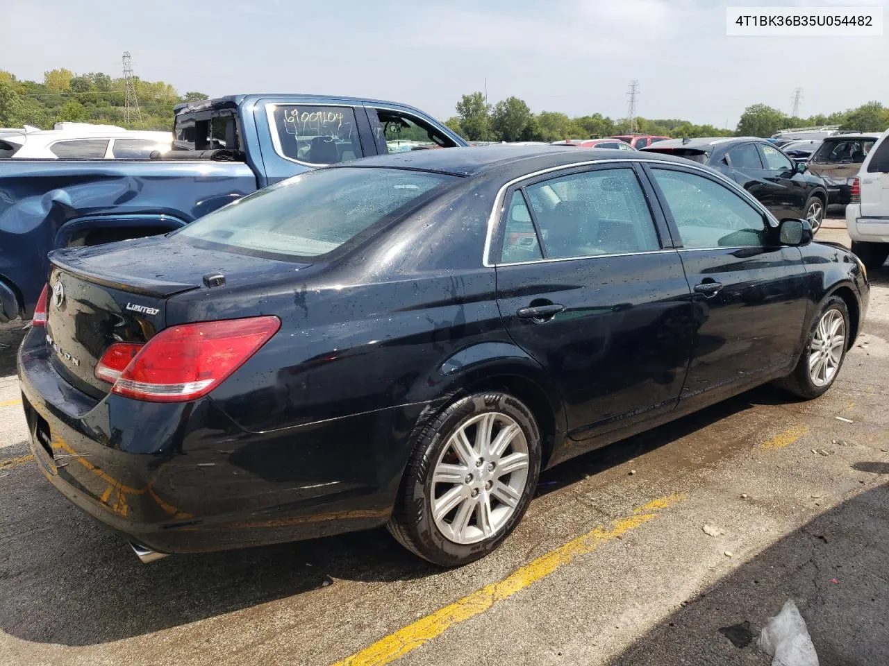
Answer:
[[[265,316],[164,329],[135,354],[111,391],[151,402],[195,400],[240,368],[280,327],[277,317]],[[108,347],[105,356],[115,346]],[[124,353],[120,350],[121,356]],[[118,364],[122,360],[116,359]],[[111,363],[107,365],[115,369]],[[96,373],[99,377],[98,367]]]

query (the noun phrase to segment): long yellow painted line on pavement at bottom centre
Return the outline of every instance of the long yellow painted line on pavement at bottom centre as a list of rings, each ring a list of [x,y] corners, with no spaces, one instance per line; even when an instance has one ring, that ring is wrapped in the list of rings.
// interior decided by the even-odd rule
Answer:
[[[587,534],[541,555],[501,581],[485,585],[481,590],[472,592],[469,596],[408,624],[386,638],[381,638],[372,646],[365,647],[361,652],[336,662],[334,666],[382,666],[394,662],[441,635],[454,624],[484,613],[496,602],[508,599],[517,591],[524,590],[531,583],[564,567],[574,558],[595,551],[603,543],[644,525],[657,516],[658,511],[666,509],[682,498],[681,495],[661,497],[635,509],[633,515],[628,518],[614,520],[610,527],[596,527]]]

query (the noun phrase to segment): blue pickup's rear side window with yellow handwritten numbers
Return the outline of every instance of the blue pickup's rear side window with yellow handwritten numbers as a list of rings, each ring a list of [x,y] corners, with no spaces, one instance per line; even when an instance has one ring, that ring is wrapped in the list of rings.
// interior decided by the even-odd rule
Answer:
[[[274,109],[277,146],[284,157],[336,164],[364,155],[352,107],[283,104]]]

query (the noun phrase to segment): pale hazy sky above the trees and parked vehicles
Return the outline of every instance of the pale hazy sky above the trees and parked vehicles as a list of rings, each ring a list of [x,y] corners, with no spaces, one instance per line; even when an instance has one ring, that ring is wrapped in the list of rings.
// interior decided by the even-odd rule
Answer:
[[[884,7],[884,36],[725,35],[725,6]],[[464,93],[532,111],[734,128],[745,107],[828,114],[889,106],[889,0],[0,0],[0,69],[121,75],[211,96],[305,92],[392,99],[438,118]],[[27,29],[26,29],[27,28]]]

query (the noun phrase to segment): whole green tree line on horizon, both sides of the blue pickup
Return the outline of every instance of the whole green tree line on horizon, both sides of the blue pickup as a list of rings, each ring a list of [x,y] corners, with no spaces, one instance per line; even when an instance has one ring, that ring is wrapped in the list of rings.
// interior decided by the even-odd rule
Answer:
[[[125,122],[125,86],[122,77],[102,72],[76,75],[68,69],[44,72],[42,83],[19,80],[0,69],[0,126],[24,124],[52,129],[53,123],[74,121],[107,123],[132,130],[169,130],[172,108],[182,101],[204,99],[202,92],[180,95],[169,83],[134,79],[141,120]],[[446,124],[470,141],[558,141],[589,139],[629,133],[629,118],[613,119],[602,114],[569,117],[557,111],[533,113],[517,97],[488,104],[482,92],[463,95],[457,115]],[[789,127],[840,125],[853,131],[884,131],[889,127],[889,108],[871,101],[861,107],[830,115],[793,117],[765,104],[747,107],[734,130],[697,125],[687,120],[636,118],[637,131],[667,137],[770,137]]]

